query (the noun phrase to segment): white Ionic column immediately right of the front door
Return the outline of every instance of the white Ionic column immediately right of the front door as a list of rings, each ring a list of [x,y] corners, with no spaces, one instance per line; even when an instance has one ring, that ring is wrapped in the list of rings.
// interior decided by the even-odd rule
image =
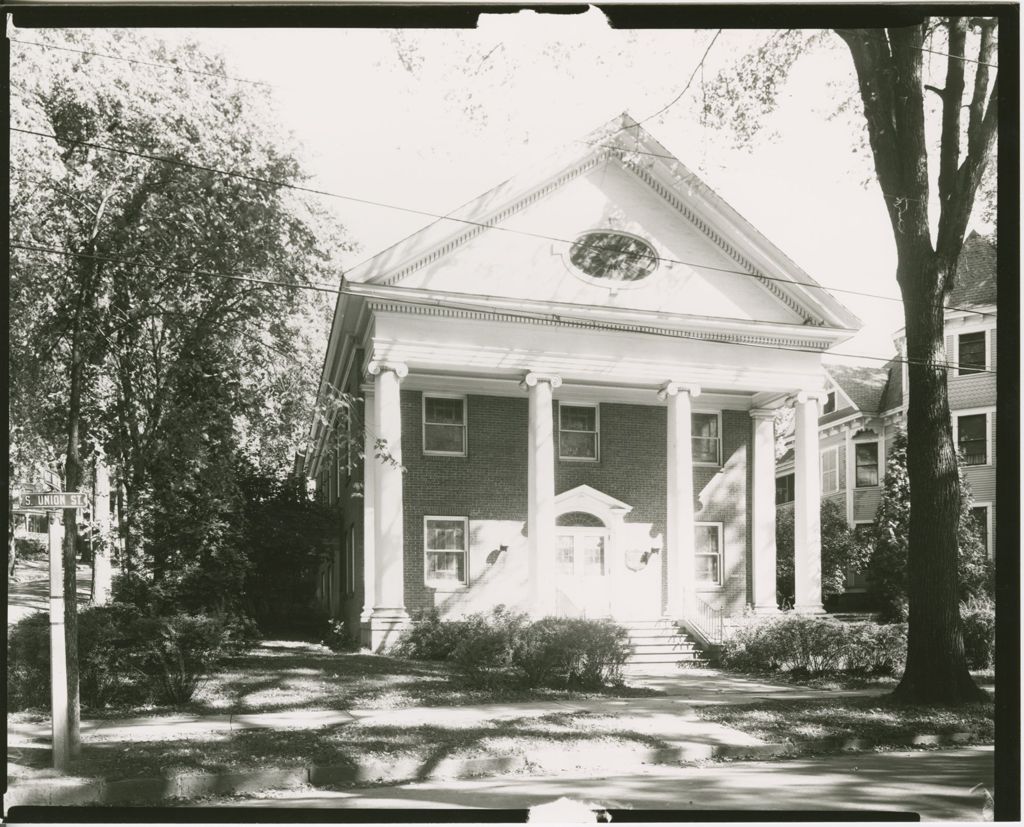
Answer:
[[[692,400],[700,395],[697,385],[668,382],[658,397],[669,403],[668,510],[666,563],[669,599],[666,614],[677,620],[696,609],[696,572],[693,564],[693,440]]]

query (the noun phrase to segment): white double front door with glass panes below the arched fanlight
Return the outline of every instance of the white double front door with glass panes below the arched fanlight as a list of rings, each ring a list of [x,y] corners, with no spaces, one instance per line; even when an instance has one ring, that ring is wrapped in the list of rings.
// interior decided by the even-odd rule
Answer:
[[[555,613],[607,617],[608,533],[605,528],[559,528],[555,542]]]

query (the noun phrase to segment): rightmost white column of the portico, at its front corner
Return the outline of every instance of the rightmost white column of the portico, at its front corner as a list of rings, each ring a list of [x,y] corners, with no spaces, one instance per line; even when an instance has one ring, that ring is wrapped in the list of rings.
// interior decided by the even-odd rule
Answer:
[[[798,612],[820,614],[821,605],[821,471],[818,451],[820,397],[799,393],[796,398],[797,441],[794,445],[796,498],[794,546]]]

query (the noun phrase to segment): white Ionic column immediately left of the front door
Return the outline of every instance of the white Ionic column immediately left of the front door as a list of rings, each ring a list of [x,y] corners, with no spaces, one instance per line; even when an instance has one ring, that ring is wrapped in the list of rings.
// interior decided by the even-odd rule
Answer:
[[[526,533],[529,542],[530,604],[538,617],[555,613],[555,433],[552,391],[559,377],[529,373],[522,385],[529,393]]]

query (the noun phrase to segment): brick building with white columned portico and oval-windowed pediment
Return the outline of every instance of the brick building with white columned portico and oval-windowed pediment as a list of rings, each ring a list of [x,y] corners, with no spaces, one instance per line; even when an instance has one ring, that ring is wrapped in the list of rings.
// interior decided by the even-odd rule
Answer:
[[[375,650],[433,608],[706,640],[776,611],[792,404],[797,608],[820,612],[821,354],[859,320],[629,116],[453,215],[346,274],[321,399],[365,402],[301,459],[340,512],[322,605]]]

